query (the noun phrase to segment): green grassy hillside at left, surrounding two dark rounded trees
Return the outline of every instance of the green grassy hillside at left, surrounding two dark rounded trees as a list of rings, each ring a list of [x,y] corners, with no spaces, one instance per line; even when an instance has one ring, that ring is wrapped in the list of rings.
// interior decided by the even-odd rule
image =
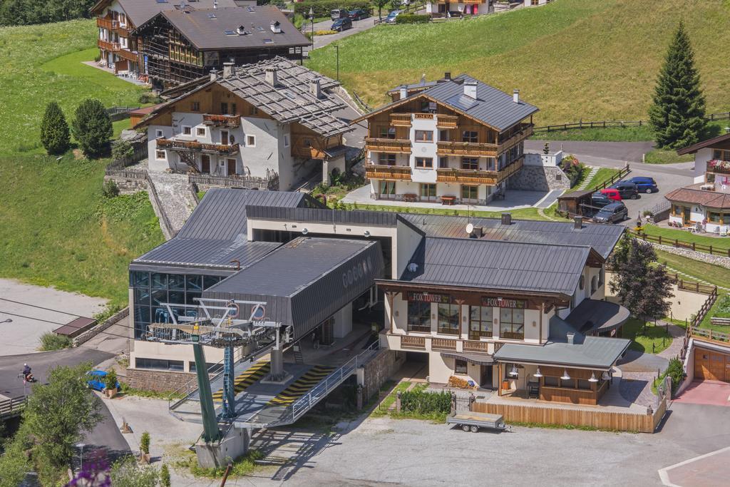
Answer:
[[[66,119],[93,96],[138,105],[144,90],[81,64],[93,59],[94,20],[0,28],[0,276],[128,301],[127,266],[164,242],[146,193],[101,195],[108,159],[45,156],[39,126],[55,100]],[[129,120],[114,123],[115,134]]]

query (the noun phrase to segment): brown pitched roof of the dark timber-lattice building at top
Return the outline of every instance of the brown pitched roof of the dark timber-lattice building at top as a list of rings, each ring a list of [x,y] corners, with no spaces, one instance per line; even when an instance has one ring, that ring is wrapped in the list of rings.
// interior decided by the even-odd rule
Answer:
[[[199,50],[310,45],[309,39],[272,5],[218,9],[192,5],[192,8],[165,10],[161,15]],[[280,23],[279,34],[271,30],[274,22]],[[244,27],[247,34],[239,35],[236,30],[239,27]]]

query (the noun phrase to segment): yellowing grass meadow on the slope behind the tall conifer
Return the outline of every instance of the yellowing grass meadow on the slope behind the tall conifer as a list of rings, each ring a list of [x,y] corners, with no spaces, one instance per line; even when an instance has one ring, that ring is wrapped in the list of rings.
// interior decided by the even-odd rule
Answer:
[[[507,93],[520,88],[540,108],[537,125],[646,119],[666,47],[684,20],[708,112],[725,112],[730,5],[689,3],[561,0],[459,22],[377,26],[337,42],[340,79],[377,106],[389,88],[423,73],[435,80],[466,72]],[[307,66],[334,77],[335,54],[331,45],[312,51]]]

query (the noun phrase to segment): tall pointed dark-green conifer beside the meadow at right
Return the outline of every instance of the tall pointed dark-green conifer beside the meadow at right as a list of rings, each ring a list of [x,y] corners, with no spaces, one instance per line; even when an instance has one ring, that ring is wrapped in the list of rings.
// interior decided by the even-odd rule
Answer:
[[[649,118],[656,132],[656,143],[661,147],[676,149],[692,145],[702,140],[707,131],[694,51],[681,22],[666,52]]]

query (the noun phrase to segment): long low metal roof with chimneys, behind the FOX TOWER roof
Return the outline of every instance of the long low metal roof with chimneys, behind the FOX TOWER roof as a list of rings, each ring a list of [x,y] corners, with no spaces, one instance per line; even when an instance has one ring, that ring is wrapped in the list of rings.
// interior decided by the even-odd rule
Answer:
[[[472,223],[476,229],[483,229],[483,240],[507,240],[561,245],[589,245],[605,259],[623,234],[618,225],[597,225],[583,223],[576,229],[573,222],[512,220],[502,225],[499,218],[467,218],[447,215],[415,215],[401,213],[401,218],[410,221],[429,237],[450,237],[466,239],[466,225]]]

